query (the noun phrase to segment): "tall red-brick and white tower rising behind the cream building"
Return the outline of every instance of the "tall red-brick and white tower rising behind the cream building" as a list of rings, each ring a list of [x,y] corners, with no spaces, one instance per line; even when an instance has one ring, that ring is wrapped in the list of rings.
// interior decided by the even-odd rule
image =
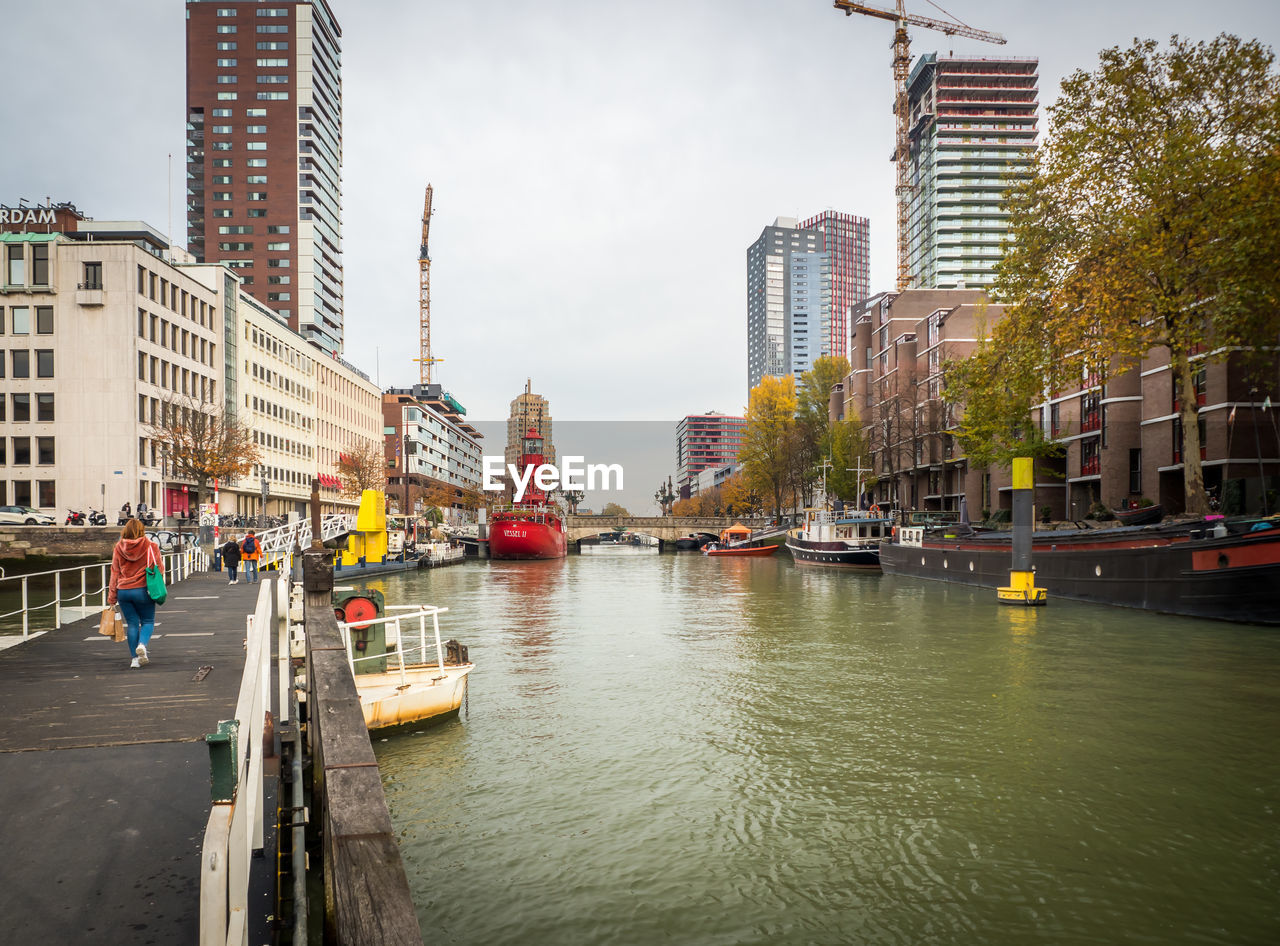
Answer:
[[[187,0],[187,239],[343,349],[342,29],[325,0]]]

